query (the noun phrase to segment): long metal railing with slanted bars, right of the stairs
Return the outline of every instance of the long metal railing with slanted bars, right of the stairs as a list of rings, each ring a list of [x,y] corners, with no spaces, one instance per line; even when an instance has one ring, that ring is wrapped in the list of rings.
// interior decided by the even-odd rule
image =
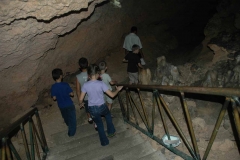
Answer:
[[[128,124],[134,126],[136,129],[138,129],[142,133],[146,134],[148,137],[157,141],[159,144],[161,144],[168,150],[181,156],[183,159],[187,159],[187,160],[192,160],[192,159],[206,160],[207,159],[209,152],[211,150],[211,147],[213,145],[213,142],[216,138],[219,127],[221,125],[221,122],[224,118],[224,115],[230,106],[229,104],[231,104],[232,111],[233,111],[235,129],[237,132],[236,139],[238,139],[238,141],[239,141],[240,119],[239,119],[239,112],[238,112],[237,107],[239,107],[238,97],[240,97],[240,88],[238,88],[238,89],[234,89],[234,88],[204,88],[204,87],[178,87],[178,86],[127,85],[127,84],[118,84],[118,85],[124,86],[124,89],[126,90],[126,100],[125,101],[123,101],[123,92],[121,94],[119,94],[119,96],[118,96],[122,114],[124,117],[124,121],[127,122]],[[143,101],[143,96],[142,96],[140,90],[152,92],[152,96],[153,96],[152,106],[145,106],[144,101]],[[134,101],[131,91],[138,93],[140,105],[137,105],[137,103]],[[169,106],[165,102],[162,95],[166,94],[166,93],[178,95],[178,97],[180,97],[182,106],[183,106],[183,112],[185,115],[185,120],[186,120],[188,131],[189,131],[189,136],[191,138],[192,144],[190,144],[188,138],[183,133],[183,131],[182,131],[180,125],[178,124],[176,118],[174,117],[172,111],[170,110]],[[215,127],[211,134],[211,138],[209,140],[209,143],[207,145],[207,148],[205,150],[203,158],[201,158],[200,153],[199,153],[191,116],[190,116],[188,106],[186,103],[186,99],[185,99],[185,94],[191,94],[191,95],[194,94],[195,97],[196,97],[196,95],[197,96],[207,95],[210,97],[211,96],[220,96],[220,97],[225,98],[225,102],[223,103],[223,106],[222,106],[219,116],[217,118]],[[198,98],[195,98],[195,99],[198,99]],[[157,106],[157,108],[156,108],[156,106]],[[150,108],[150,107],[152,107],[152,108]],[[154,118],[154,117],[155,117],[156,109],[158,109],[158,111],[160,113],[160,117],[161,117],[162,124],[164,127],[164,132],[165,132],[165,135],[167,135],[168,140],[170,140],[170,133],[169,133],[168,125],[166,124],[165,115],[167,115],[169,117],[169,119],[171,120],[177,133],[179,134],[179,136],[181,137],[182,141],[184,142],[186,148],[188,149],[190,155],[178,150],[177,148],[173,147],[172,145],[166,145],[166,143],[163,142],[162,138],[159,138],[155,135],[154,124],[156,123],[155,122],[156,118]],[[151,116],[149,116],[149,113],[147,113],[147,110],[148,111],[150,110]],[[137,118],[137,116],[139,116],[140,118]],[[150,117],[151,117],[151,119],[150,119]],[[145,129],[143,127],[140,127],[139,119],[142,120],[144,126],[146,127]]]

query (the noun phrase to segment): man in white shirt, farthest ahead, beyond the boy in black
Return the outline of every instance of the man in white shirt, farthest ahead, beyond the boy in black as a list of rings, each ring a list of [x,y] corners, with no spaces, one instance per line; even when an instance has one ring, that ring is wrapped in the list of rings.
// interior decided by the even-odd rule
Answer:
[[[125,49],[125,55],[132,51],[132,46],[136,44],[140,47],[139,57],[143,60],[144,55],[142,52],[142,43],[140,38],[137,36],[137,27],[133,26],[131,28],[131,33],[129,33],[124,40],[123,48]],[[145,63],[145,62],[144,62]]]

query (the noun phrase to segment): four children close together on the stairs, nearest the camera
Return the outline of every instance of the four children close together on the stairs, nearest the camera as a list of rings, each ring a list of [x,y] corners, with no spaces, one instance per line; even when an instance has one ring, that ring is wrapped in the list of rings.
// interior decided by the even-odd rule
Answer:
[[[102,116],[106,119],[108,137],[114,136],[116,130],[110,113],[112,106],[111,98],[118,94],[122,86],[118,86],[114,92],[112,91],[110,84],[115,84],[115,82],[105,73],[107,66],[104,61],[100,62],[99,65],[88,65],[88,60],[82,57],[79,59],[79,67],[81,73],[76,76],[76,92],[80,109],[85,108],[88,122],[90,124],[95,123],[101,145],[106,146],[109,144],[109,140],[104,131]],[[53,100],[57,100],[64,122],[68,126],[68,136],[74,136],[77,125],[76,110],[71,99],[74,96],[73,90],[68,83],[62,82],[63,72],[61,69],[54,69],[52,77],[56,83],[52,85],[51,96]],[[107,101],[107,104],[105,101]]]

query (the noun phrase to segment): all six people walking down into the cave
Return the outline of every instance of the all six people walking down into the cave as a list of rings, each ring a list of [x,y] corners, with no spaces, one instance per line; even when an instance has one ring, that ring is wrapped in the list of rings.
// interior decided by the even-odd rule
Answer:
[[[125,48],[124,62],[128,62],[127,72],[130,84],[138,83],[138,67],[143,68],[143,53],[141,51],[142,44],[136,35],[137,27],[131,28],[131,33],[126,36],[123,48]],[[106,73],[107,64],[102,61],[99,65],[88,64],[88,60],[84,57],[79,59],[79,67],[81,73],[76,76],[76,93],[79,101],[80,109],[85,108],[88,123],[95,123],[102,146],[109,144],[108,137],[115,135],[115,128],[112,123],[112,115],[110,113],[112,107],[112,98],[115,97],[123,86],[116,86],[116,90],[112,91],[111,85],[116,82]],[[63,82],[63,72],[56,68],[52,71],[52,77],[55,84],[51,87],[51,96],[57,101],[58,107],[68,126],[68,136],[72,137],[76,133],[76,110],[71,97],[74,96],[73,90],[68,83]],[[105,134],[102,122],[102,116],[105,117],[107,123],[107,134]]]

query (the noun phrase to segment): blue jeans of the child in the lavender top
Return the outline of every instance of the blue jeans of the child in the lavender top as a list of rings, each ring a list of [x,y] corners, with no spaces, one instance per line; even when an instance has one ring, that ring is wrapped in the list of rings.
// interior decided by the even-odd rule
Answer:
[[[116,130],[115,130],[114,125],[112,123],[111,113],[110,113],[107,105],[104,103],[100,106],[89,106],[88,109],[89,109],[89,113],[92,116],[93,121],[97,125],[101,145],[102,146],[108,145],[109,140],[108,140],[108,138],[105,134],[101,116],[104,116],[105,119],[106,119],[107,133],[109,135],[115,133]]]

